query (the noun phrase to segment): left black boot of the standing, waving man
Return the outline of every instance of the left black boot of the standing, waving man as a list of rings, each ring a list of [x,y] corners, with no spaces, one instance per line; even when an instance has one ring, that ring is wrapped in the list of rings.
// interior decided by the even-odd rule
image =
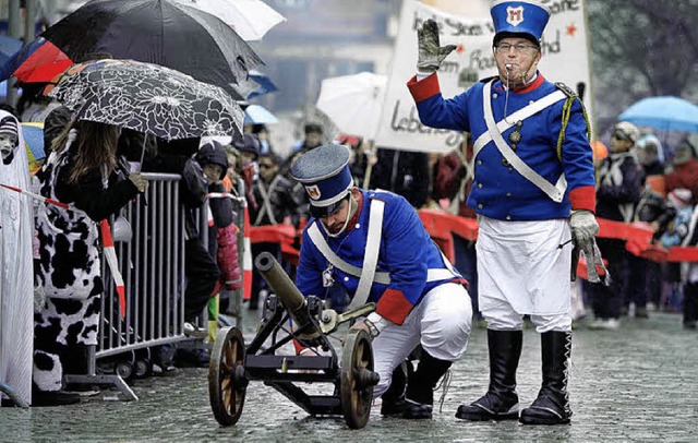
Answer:
[[[519,396],[516,394],[516,369],[521,356],[521,331],[488,330],[490,349],[490,387],[471,403],[460,405],[456,417],[462,420],[516,420]]]

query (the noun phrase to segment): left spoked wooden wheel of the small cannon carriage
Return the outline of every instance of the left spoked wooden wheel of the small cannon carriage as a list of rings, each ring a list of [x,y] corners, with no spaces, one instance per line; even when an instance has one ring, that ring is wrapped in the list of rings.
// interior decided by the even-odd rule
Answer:
[[[244,339],[237,327],[216,334],[208,367],[208,398],[214,417],[222,426],[238,422],[248,380],[244,374]]]

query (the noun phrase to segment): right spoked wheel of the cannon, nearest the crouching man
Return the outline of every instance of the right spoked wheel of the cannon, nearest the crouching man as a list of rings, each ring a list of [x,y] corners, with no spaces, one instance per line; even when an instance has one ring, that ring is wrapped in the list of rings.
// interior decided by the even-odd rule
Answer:
[[[378,374],[373,372],[371,337],[363,330],[349,330],[341,354],[341,410],[351,429],[366,426],[373,403],[373,386]]]

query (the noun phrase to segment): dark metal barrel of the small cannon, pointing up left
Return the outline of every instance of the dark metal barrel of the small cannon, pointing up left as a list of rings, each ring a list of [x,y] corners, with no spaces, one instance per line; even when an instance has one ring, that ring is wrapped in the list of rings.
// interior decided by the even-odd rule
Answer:
[[[291,278],[286,274],[279,262],[268,252],[262,252],[254,260],[254,265],[266,283],[281,301],[297,324],[300,337],[303,339],[317,338],[321,332],[313,323],[308,312],[308,301],[296,287]]]

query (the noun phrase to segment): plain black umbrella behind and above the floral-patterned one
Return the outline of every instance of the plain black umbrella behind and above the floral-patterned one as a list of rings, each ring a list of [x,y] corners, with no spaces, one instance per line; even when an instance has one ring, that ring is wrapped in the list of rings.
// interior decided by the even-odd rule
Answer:
[[[264,64],[221,20],[170,0],[93,0],[41,36],[72,60],[108,53],[172,68],[228,91]]]

